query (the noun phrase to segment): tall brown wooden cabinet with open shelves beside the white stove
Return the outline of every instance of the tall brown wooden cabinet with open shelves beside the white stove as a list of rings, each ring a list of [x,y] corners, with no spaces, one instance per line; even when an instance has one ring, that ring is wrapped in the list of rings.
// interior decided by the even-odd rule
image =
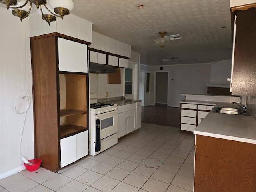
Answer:
[[[88,44],[58,33],[30,38],[35,158],[53,172],[88,154]]]

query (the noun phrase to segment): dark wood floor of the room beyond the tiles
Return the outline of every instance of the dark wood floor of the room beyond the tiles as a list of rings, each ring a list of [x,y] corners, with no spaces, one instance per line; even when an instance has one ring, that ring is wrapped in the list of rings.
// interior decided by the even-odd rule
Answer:
[[[166,104],[142,107],[141,122],[156,125],[180,127],[180,108]]]

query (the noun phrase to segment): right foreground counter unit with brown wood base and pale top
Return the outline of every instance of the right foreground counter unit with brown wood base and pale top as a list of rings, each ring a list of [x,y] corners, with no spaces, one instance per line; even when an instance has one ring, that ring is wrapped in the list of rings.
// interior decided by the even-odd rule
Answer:
[[[215,107],[237,108],[218,102]],[[196,134],[194,192],[256,191],[256,119],[209,112]]]

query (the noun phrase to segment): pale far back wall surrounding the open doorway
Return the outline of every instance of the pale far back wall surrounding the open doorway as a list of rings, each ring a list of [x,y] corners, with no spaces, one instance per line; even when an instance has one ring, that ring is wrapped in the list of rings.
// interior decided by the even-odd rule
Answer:
[[[169,71],[168,106],[179,107],[179,101],[184,99],[180,93],[207,94],[205,83],[210,82],[211,64],[184,64],[163,66],[163,71]],[[154,86],[154,72],[160,71],[160,66],[150,67],[150,86]],[[150,88],[150,105],[154,105],[154,92]]]

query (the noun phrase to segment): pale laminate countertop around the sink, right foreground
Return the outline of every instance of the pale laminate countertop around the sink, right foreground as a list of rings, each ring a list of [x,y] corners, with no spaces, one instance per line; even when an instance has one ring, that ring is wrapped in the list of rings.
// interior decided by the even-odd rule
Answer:
[[[217,102],[215,107],[237,108],[238,106],[227,102]],[[256,144],[256,119],[253,115],[209,112],[195,128],[194,134]]]

